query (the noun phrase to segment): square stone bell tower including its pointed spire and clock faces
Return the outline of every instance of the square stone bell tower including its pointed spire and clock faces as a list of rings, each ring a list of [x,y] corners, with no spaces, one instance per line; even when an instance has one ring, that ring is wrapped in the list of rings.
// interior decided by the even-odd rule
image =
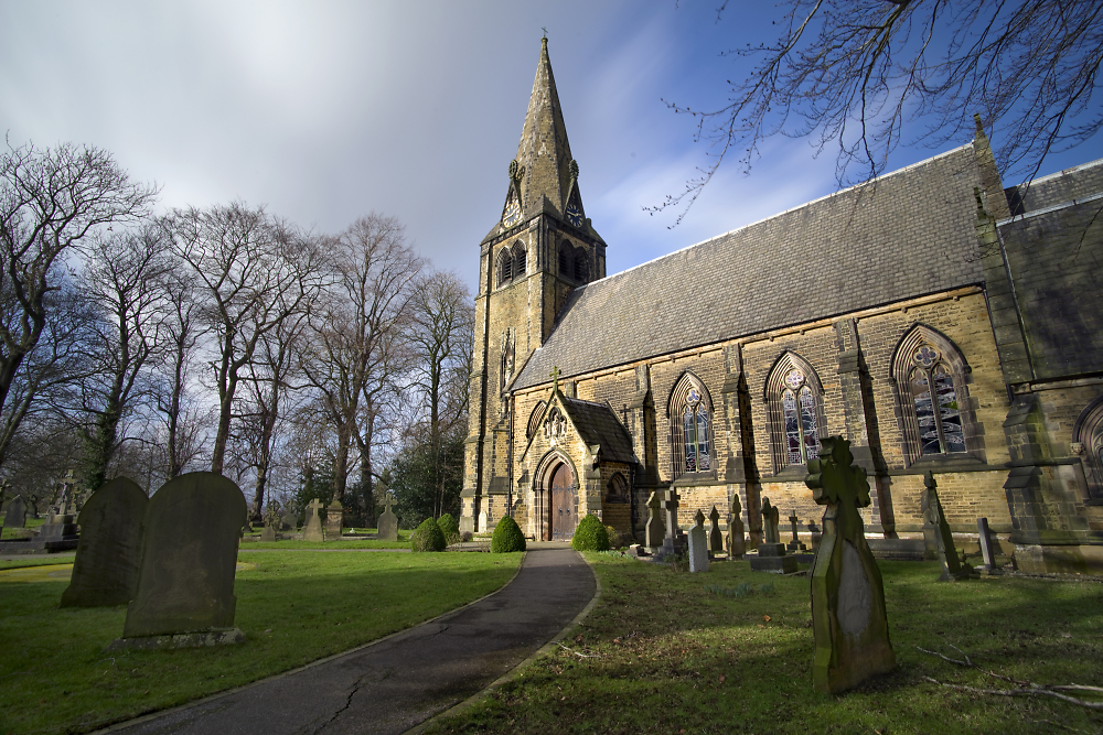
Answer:
[[[540,40],[517,156],[503,173],[502,209],[479,244],[461,531],[490,530],[512,512],[514,432],[525,431],[515,426],[513,380],[548,338],[570,292],[606,275],[606,244],[582,206],[547,37]]]

